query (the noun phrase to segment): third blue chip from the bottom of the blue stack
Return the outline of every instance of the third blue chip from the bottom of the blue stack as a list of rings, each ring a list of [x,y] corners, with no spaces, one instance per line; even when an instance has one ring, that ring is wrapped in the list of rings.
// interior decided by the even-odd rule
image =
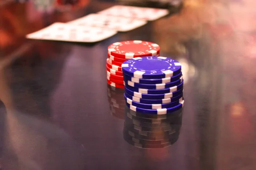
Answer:
[[[176,101],[178,101],[180,99],[180,97],[183,96],[183,92],[180,93],[178,96],[175,96],[175,97],[172,97],[172,98],[169,98],[169,99],[154,99],[154,100],[140,99],[140,98],[131,96],[130,94],[127,94],[126,92],[125,92],[125,96],[128,99],[133,100],[134,102],[152,105],[152,104],[166,104],[166,103],[176,102]]]

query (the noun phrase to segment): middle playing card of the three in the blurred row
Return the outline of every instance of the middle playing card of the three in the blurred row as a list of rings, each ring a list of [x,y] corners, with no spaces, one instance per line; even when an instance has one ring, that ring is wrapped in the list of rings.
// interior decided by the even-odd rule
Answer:
[[[128,17],[107,16],[102,14],[90,14],[73,20],[68,24],[79,26],[96,26],[111,28],[116,31],[130,31],[140,26],[145,25],[147,22],[144,20],[137,20]]]

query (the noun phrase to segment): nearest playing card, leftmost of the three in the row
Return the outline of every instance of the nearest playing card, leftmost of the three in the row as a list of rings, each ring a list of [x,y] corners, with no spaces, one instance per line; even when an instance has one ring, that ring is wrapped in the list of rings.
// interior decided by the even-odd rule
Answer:
[[[98,27],[54,23],[47,28],[26,35],[26,38],[70,42],[98,42],[116,33],[117,32],[113,30]]]

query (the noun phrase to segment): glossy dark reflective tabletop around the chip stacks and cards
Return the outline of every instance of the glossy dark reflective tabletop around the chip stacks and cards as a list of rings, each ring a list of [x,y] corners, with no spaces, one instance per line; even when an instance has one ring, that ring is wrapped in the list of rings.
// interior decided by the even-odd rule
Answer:
[[[3,170],[256,169],[253,0],[187,0],[177,14],[95,44],[24,38],[116,4],[83,2],[45,14],[29,3],[0,7]],[[124,140],[125,101],[107,85],[105,70],[108,45],[123,40],[155,42],[161,56],[182,63],[182,126],[169,147]],[[115,113],[111,99],[120,104]]]

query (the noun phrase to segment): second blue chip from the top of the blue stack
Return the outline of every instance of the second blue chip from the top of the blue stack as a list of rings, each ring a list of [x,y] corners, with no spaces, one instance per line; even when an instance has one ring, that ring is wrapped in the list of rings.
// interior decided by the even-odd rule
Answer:
[[[140,84],[162,84],[162,83],[175,82],[176,80],[180,79],[181,76],[182,76],[182,73],[180,72],[176,76],[166,77],[162,79],[139,79],[139,78],[135,78],[135,77],[131,77],[126,74],[123,74],[124,79],[129,80],[131,82],[140,83]]]

